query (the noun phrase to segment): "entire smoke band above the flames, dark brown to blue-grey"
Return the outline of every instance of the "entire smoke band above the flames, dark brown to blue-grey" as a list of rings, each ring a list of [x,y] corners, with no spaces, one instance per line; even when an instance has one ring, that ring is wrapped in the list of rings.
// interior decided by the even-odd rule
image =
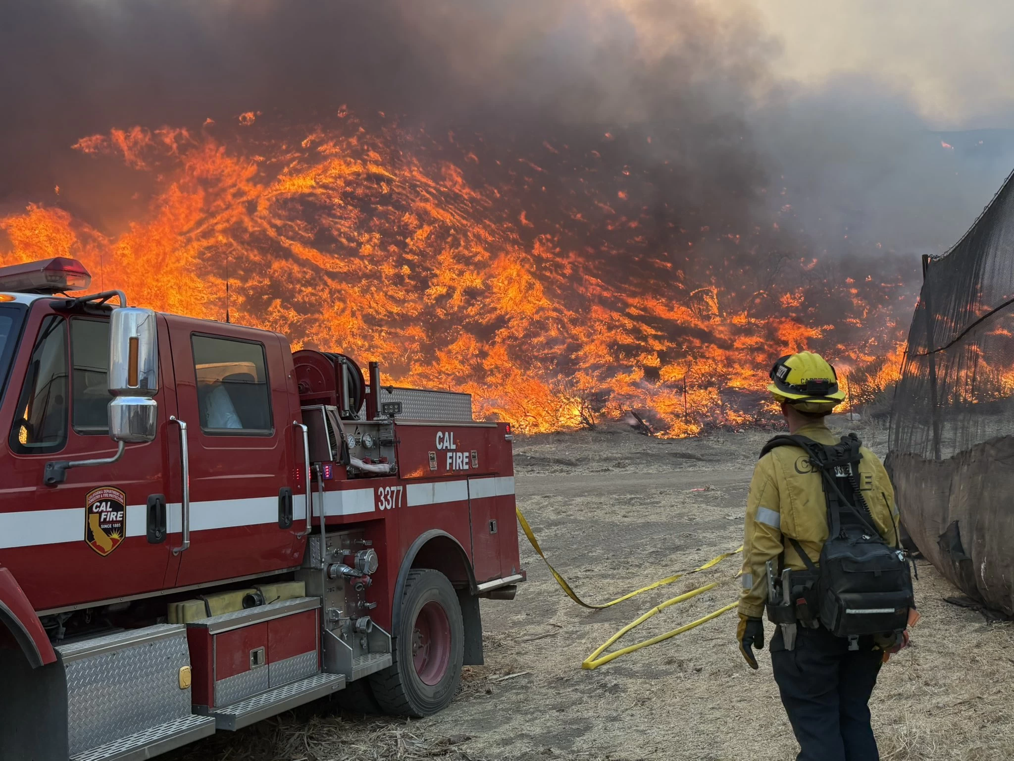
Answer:
[[[733,5],[8,0],[0,203],[62,184],[65,205],[86,205],[102,181],[74,182],[87,164],[70,146],[111,127],[249,110],[312,119],[348,103],[536,145],[630,129],[653,139],[631,150],[681,169],[668,201],[746,223],[784,189],[817,252],[846,235],[904,252],[956,239],[1006,174],[1009,141],[943,147],[903,96],[858,78],[779,85],[777,42],[745,0]]]

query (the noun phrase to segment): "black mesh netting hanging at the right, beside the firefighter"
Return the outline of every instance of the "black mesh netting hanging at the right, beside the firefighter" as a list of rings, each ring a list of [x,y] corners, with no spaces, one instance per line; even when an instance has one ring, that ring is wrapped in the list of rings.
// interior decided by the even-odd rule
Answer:
[[[889,467],[920,550],[967,595],[1014,613],[1011,178],[951,251],[925,262]]]

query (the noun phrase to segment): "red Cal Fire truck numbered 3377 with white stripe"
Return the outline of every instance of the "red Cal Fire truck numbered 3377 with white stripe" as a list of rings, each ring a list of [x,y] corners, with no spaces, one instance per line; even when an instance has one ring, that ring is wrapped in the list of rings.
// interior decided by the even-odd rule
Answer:
[[[353,683],[446,706],[524,579],[510,426],[89,283],[0,268],[0,759],[150,758]]]

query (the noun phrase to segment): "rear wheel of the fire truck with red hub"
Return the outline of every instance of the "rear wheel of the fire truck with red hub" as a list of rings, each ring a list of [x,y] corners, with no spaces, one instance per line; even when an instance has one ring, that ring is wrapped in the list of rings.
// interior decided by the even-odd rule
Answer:
[[[457,692],[464,660],[464,622],[457,595],[439,571],[409,571],[402,620],[393,632],[392,664],[370,676],[373,697],[386,713],[428,716]]]

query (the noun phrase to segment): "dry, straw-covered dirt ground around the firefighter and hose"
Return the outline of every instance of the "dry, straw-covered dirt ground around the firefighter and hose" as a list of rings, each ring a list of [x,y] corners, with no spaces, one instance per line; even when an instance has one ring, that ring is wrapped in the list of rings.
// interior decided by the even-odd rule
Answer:
[[[847,424],[834,419],[839,425]],[[882,428],[861,436],[879,454]],[[835,422],[832,422],[835,427]],[[662,440],[623,425],[521,437],[517,502],[551,562],[589,602],[605,602],[735,549],[753,462],[771,432]],[[749,670],[735,612],[673,639],[583,671],[624,624],[709,580],[619,645],[673,629],[733,602],[738,556],[625,602],[589,611],[557,586],[523,536],[528,580],[514,601],[483,601],[486,665],[468,667],[454,702],[422,720],[313,705],[173,754],[237,759],[694,759],[788,761],[796,745],[767,650]],[[885,760],[1014,756],[1014,630],[943,602],[958,595],[921,562],[923,620],[914,644],[881,671],[874,729]],[[769,636],[771,624],[767,624]]]

